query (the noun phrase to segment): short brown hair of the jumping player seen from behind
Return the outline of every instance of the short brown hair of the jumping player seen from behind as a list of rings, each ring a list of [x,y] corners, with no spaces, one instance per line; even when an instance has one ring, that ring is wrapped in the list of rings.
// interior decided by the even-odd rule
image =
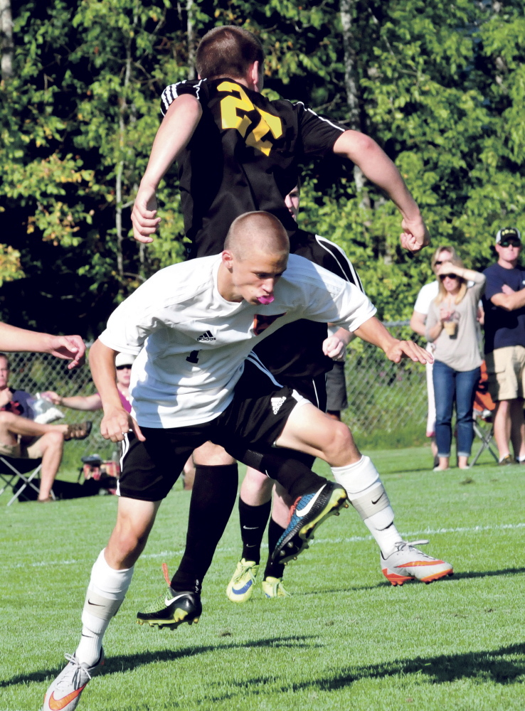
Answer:
[[[235,25],[214,27],[203,36],[197,48],[196,68],[203,79],[246,76],[250,65],[263,63],[263,45],[248,30]]]

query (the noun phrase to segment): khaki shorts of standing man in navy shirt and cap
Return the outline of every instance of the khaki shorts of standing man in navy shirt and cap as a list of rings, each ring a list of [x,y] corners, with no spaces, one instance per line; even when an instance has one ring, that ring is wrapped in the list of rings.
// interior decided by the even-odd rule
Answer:
[[[485,356],[492,400],[516,400],[525,392],[525,348],[496,348]]]

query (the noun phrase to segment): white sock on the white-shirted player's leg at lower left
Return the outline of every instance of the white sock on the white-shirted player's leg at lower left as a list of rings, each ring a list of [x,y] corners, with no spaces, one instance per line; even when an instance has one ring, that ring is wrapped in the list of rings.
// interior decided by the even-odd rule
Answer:
[[[133,567],[115,570],[100,552],[91,570],[90,584],[82,611],[82,636],[75,656],[90,666],[100,658],[102,637],[122,604],[133,575]]]

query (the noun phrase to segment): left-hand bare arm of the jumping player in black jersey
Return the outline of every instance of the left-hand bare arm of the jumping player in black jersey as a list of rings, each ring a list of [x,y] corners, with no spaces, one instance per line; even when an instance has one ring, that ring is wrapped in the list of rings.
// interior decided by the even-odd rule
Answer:
[[[155,193],[164,173],[189,143],[201,116],[201,105],[190,95],[177,97],[167,110],[153,141],[147,169],[140,182],[132,210],[135,240],[153,242],[152,235],[157,232],[161,221],[161,218],[157,217]]]

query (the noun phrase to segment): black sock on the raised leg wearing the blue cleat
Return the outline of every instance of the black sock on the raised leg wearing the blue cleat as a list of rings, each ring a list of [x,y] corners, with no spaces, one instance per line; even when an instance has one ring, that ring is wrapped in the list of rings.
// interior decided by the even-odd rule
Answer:
[[[297,456],[298,455],[298,456]],[[292,498],[305,493],[319,491],[327,480],[315,474],[300,457],[309,456],[293,449],[275,449],[263,455],[259,471],[263,471],[271,479],[278,481]]]

